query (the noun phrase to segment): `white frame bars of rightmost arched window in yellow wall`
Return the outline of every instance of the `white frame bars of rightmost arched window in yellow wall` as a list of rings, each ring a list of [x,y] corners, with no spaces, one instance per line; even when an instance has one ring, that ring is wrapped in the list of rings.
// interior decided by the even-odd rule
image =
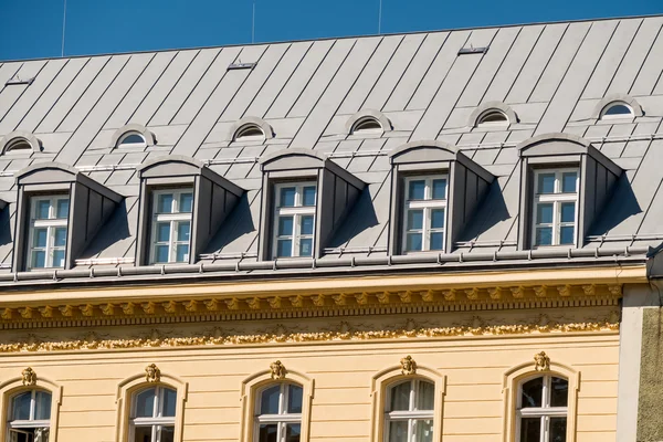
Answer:
[[[530,407],[523,408],[523,386],[530,380],[536,378],[544,378],[543,393],[541,393],[541,406],[543,407]],[[550,407],[550,386],[552,378],[559,378],[566,380],[570,391],[570,382],[564,376],[545,375],[535,376],[522,380],[518,383],[518,401],[516,407],[516,441],[520,440],[520,427],[523,418],[540,418],[541,421],[541,438],[537,442],[549,442],[550,433],[550,418],[567,418],[567,431],[569,425],[569,408],[568,403],[570,398],[567,399],[567,407]]]

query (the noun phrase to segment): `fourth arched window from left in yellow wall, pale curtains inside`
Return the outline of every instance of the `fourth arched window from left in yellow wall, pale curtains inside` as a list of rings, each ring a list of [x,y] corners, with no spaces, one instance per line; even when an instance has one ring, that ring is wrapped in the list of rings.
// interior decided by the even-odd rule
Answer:
[[[423,379],[398,382],[387,388],[385,399],[386,442],[433,440],[433,382]]]

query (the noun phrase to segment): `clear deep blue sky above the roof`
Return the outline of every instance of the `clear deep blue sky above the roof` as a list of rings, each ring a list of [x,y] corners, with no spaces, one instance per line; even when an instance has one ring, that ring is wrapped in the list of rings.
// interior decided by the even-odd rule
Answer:
[[[63,1],[0,0],[0,60],[60,56]],[[253,0],[66,1],[65,55],[251,42]],[[255,3],[256,42],[378,32],[379,0]],[[382,0],[382,32],[654,13],[663,0]]]

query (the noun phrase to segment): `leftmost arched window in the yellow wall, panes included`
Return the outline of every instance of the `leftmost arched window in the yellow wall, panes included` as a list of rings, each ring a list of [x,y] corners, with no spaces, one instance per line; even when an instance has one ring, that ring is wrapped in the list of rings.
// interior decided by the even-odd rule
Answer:
[[[51,393],[45,390],[22,391],[11,398],[9,442],[49,442],[51,431]]]

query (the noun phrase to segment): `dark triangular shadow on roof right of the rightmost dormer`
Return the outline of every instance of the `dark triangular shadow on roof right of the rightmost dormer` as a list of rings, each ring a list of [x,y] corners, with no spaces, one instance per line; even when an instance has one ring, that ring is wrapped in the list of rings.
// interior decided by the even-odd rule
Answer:
[[[642,208],[638,203],[627,173],[622,173],[614,186],[612,194],[609,194],[606,199],[603,210],[598,217],[594,217],[596,222],[589,229],[588,235],[606,234],[628,218],[641,212]]]

